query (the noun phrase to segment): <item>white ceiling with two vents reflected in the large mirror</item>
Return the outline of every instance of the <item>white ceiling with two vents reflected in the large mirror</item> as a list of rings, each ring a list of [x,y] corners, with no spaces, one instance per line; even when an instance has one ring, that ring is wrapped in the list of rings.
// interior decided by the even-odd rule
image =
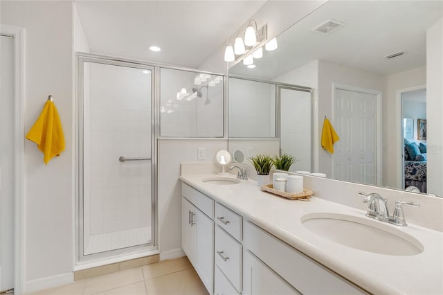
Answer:
[[[242,63],[235,75],[271,80],[313,60],[388,75],[426,66],[426,29],[442,17],[443,1],[328,1],[277,37],[255,69]],[[346,25],[329,35],[311,31],[334,19]],[[383,56],[405,51],[390,60]]]

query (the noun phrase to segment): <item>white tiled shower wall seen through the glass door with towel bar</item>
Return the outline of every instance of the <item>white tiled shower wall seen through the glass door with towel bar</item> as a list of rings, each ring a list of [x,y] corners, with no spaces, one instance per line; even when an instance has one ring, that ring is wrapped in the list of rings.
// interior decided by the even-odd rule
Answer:
[[[150,226],[151,161],[118,161],[151,157],[150,74],[91,64],[90,78],[90,125],[84,127],[90,129],[84,141],[84,178],[90,183],[84,191],[91,235]]]

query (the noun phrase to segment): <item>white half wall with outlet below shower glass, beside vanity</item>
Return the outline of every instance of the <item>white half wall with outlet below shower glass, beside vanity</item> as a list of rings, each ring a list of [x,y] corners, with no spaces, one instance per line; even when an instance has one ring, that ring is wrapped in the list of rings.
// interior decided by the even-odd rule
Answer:
[[[180,164],[197,162],[197,148],[204,147],[205,160],[214,162],[219,150],[227,150],[226,139],[159,138],[159,247],[160,258],[183,256],[181,250]],[[221,171],[221,168],[219,168]]]

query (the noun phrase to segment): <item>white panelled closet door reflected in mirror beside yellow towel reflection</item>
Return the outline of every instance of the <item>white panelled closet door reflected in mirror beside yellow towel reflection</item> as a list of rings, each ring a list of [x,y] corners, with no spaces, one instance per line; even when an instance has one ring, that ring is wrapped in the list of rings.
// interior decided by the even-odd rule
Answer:
[[[377,96],[335,89],[334,179],[377,184]]]

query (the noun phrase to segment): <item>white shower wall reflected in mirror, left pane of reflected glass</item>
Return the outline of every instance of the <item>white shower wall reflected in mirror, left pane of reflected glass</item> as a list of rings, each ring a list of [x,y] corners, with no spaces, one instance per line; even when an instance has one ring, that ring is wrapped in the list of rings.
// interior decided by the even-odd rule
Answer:
[[[273,84],[229,79],[229,136],[275,136],[275,88]]]

